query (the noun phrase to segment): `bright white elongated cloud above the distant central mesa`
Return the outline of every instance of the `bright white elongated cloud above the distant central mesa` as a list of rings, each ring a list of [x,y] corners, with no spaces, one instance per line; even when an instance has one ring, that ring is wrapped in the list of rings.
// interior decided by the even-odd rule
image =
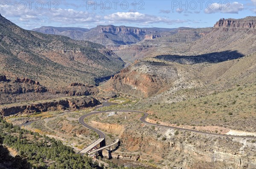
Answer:
[[[105,20],[112,21],[113,23],[130,22],[130,23],[141,23],[141,24],[151,24],[151,23],[184,23],[186,20],[169,20],[165,17],[158,17],[149,14],[141,14],[139,12],[116,12],[109,14],[104,17]]]

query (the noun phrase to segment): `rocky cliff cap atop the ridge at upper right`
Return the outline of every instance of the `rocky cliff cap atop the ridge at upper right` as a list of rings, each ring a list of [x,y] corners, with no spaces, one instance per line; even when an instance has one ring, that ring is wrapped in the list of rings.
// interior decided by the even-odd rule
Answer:
[[[214,28],[256,28],[255,19],[250,20],[250,17],[244,19],[220,19],[215,25]]]

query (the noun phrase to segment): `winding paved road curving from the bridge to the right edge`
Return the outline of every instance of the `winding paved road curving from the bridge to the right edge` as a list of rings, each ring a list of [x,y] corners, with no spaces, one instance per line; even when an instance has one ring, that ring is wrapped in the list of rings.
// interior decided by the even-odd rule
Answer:
[[[214,135],[214,136],[219,136],[219,137],[239,137],[239,138],[256,138],[255,136],[240,136],[240,135],[221,135],[221,134],[217,134],[217,133],[210,133],[210,132],[203,132],[203,131],[198,131],[198,130],[193,130],[193,129],[183,129],[180,127],[173,127],[173,126],[165,126],[165,125],[161,125],[161,124],[154,124],[154,123],[149,123],[148,121],[146,121],[146,118],[148,117],[148,113],[145,112],[140,112],[140,111],[135,111],[135,110],[106,110],[106,111],[100,111],[100,112],[92,112],[86,115],[83,115],[79,118],[79,122],[87,127],[88,129],[93,130],[94,132],[96,132],[99,135],[99,139],[96,140],[95,142],[93,142],[92,144],[90,144],[89,146],[87,146],[85,149],[83,149],[81,151],[81,153],[86,153],[88,151],[90,151],[91,149],[93,149],[93,147],[95,147],[97,144],[101,143],[103,140],[105,140],[105,134],[100,131],[99,129],[96,129],[90,125],[88,125],[87,123],[84,123],[84,118],[89,117],[91,115],[96,115],[96,114],[100,114],[100,113],[108,113],[108,112],[134,112],[134,113],[143,113],[143,117],[140,117],[140,121],[142,121],[145,124],[148,125],[153,125],[153,126],[161,126],[161,127],[167,127],[169,129],[179,129],[182,131],[189,131],[189,132],[195,132],[195,133],[200,133],[200,134],[204,134],[204,135]],[[109,145],[111,146],[111,145]],[[108,146],[105,146],[108,147]]]

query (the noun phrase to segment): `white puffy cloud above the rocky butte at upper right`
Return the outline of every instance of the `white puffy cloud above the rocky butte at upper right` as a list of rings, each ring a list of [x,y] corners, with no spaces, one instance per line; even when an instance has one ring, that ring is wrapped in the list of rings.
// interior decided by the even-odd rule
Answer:
[[[230,14],[238,14],[239,11],[242,11],[244,9],[244,5],[238,2],[223,4],[223,3],[212,3],[212,5],[209,5],[207,9],[204,10],[207,14],[213,14],[213,13],[230,13]]]

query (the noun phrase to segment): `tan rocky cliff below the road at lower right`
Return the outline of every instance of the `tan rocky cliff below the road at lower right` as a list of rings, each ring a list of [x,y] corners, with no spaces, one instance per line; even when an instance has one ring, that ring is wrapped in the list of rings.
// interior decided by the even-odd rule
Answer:
[[[136,132],[128,130],[122,135],[121,145],[131,152],[143,152],[140,160],[162,160],[163,169],[170,169],[169,166],[177,166],[177,169],[256,167],[253,157],[256,143],[252,143],[251,139],[214,137],[191,132],[174,135],[174,132],[163,128],[149,132],[148,126],[136,129]],[[157,138],[156,133],[163,135],[166,140]]]

